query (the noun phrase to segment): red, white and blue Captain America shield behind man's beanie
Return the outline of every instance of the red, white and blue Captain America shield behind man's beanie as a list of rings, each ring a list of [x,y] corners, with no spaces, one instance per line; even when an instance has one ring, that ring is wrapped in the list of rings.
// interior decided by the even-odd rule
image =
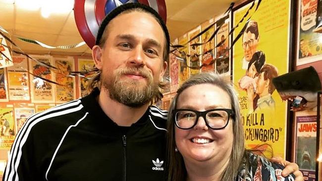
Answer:
[[[166,22],[164,0],[75,0],[74,16],[77,29],[86,44],[92,48],[104,17],[115,7],[124,3],[140,2],[156,10]]]

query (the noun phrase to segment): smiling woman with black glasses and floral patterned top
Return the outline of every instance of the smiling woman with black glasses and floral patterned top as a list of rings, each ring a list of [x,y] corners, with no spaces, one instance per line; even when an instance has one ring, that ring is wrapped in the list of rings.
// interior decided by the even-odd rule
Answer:
[[[168,116],[168,180],[284,181],[281,165],[245,150],[240,117],[238,97],[222,77],[187,80]]]

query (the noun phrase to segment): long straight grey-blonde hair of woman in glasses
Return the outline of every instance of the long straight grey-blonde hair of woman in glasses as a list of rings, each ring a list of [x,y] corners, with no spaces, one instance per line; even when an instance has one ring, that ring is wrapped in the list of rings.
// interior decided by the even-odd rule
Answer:
[[[175,125],[172,111],[176,109],[178,96],[180,96],[183,90],[201,84],[215,85],[227,92],[230,97],[231,109],[235,112],[235,116],[233,117],[233,145],[229,163],[227,164],[227,168],[225,168],[225,170],[223,171],[220,181],[234,181],[234,179],[238,175],[238,170],[240,168],[245,152],[244,129],[241,122],[238,96],[230,83],[230,79],[226,80],[223,76],[211,72],[200,73],[184,82],[182,86],[177,90],[177,94],[170,104],[167,126],[167,151],[169,168],[168,181],[185,181],[187,179],[187,171],[185,169],[182,155],[178,151],[176,151],[174,136]]]

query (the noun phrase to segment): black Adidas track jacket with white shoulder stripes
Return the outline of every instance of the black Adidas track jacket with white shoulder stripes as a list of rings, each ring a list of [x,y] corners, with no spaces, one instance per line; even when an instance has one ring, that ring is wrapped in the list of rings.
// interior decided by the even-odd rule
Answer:
[[[131,127],[120,127],[98,94],[30,117],[2,181],[164,181],[167,112],[151,106]]]

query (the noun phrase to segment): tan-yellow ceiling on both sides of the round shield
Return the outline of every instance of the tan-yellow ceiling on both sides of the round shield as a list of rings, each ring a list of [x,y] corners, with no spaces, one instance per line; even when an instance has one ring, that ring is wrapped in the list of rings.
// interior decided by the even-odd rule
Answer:
[[[224,13],[232,1],[236,0],[165,0],[166,24],[170,38],[175,39],[204,21]],[[83,40],[76,27],[73,10],[64,14],[51,14],[48,18],[44,18],[40,10],[24,10],[15,3],[7,3],[6,0],[0,0],[0,7],[0,26],[24,52],[52,55],[91,54],[91,49],[87,45],[70,49],[48,49],[16,38],[37,40],[51,46],[80,43]]]

